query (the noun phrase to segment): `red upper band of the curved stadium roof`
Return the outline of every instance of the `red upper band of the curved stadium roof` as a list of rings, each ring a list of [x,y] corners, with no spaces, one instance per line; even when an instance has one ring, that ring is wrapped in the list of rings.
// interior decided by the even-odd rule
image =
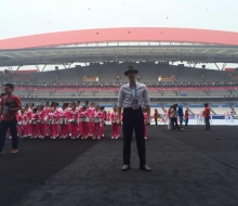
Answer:
[[[167,41],[238,46],[238,33],[190,28],[101,28],[4,39],[0,40],[0,49],[23,49],[118,41]]]

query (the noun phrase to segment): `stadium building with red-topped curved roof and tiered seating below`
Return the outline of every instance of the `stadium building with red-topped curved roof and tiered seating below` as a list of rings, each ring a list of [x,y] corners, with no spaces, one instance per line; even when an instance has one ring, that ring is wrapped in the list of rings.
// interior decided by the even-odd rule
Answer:
[[[238,72],[226,65],[238,61],[237,38],[232,31],[127,27],[4,39],[0,66],[8,69],[0,81],[13,82],[24,103],[88,100],[109,110],[128,80],[124,68],[133,65],[160,114],[173,103],[199,114],[204,102],[213,115],[236,114]],[[26,65],[35,69],[24,70]]]

